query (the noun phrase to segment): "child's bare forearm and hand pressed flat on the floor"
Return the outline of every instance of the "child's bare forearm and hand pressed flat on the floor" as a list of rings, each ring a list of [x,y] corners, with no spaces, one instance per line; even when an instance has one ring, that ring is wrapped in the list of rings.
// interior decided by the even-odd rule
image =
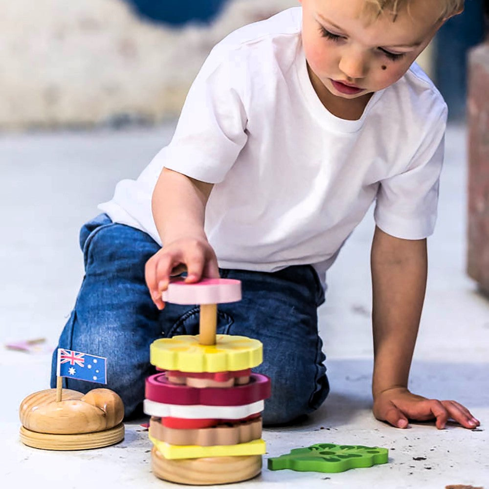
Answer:
[[[456,401],[428,400],[407,389],[426,288],[426,240],[402,240],[376,228],[371,254],[373,286],[374,415],[405,428],[408,419],[479,422]]]

